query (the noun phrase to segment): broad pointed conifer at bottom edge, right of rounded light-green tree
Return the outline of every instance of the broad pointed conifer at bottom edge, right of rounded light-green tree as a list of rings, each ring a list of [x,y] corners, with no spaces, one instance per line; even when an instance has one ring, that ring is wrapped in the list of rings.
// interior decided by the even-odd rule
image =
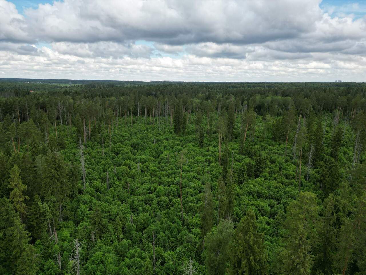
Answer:
[[[252,209],[240,220],[231,243],[231,271],[235,275],[262,275],[265,270],[264,234],[258,232]]]

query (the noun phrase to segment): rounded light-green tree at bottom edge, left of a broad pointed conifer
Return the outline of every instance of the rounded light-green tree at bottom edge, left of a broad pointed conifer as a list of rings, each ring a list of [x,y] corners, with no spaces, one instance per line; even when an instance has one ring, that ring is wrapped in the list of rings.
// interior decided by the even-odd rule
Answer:
[[[229,220],[221,220],[216,231],[206,236],[206,271],[208,275],[225,274],[229,266],[229,244],[234,233]]]

